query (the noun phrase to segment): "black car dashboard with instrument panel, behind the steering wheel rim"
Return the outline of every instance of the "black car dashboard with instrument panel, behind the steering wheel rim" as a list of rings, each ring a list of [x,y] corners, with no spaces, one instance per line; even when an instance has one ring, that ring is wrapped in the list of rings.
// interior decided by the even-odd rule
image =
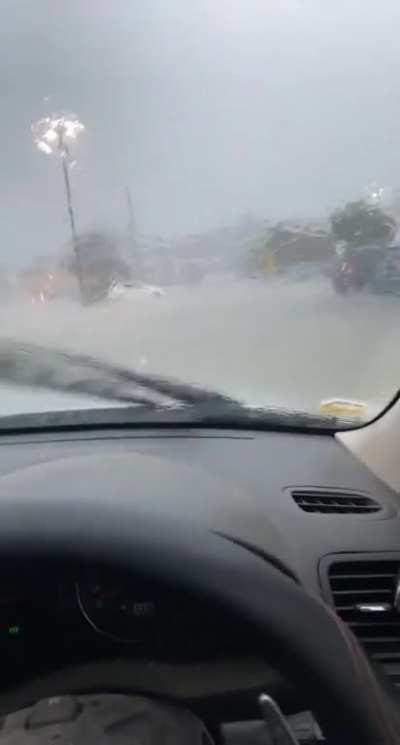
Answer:
[[[176,517],[188,531],[201,524],[276,557],[328,602],[335,601],[328,575],[336,559],[392,552],[393,576],[397,559],[400,567],[397,495],[325,433],[176,428],[3,436],[0,499],[21,493],[49,500],[73,493],[92,500],[94,514],[96,495],[112,504],[118,494],[120,505],[129,500],[154,519]],[[349,593],[347,575],[339,574],[344,589],[336,594]],[[178,688],[184,674],[193,695],[239,689],[241,676],[249,690],[277,684],[245,625],[151,577],[97,565],[1,567],[0,653],[8,686],[10,678],[19,685],[65,665],[116,659],[147,666],[146,680],[149,664],[158,681],[162,670],[173,670]],[[202,670],[197,689],[188,675],[199,680]]]

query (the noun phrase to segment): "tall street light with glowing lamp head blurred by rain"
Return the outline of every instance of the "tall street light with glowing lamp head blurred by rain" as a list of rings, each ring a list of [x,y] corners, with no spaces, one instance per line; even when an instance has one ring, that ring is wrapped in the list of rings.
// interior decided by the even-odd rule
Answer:
[[[31,126],[33,141],[42,153],[46,155],[58,154],[61,159],[61,167],[64,176],[65,194],[67,199],[67,210],[71,226],[72,245],[75,253],[76,270],[83,301],[82,272],[80,266],[78,234],[76,230],[75,212],[72,204],[71,184],[69,180],[69,167],[73,165],[70,161],[69,146],[75,141],[85,129],[84,124],[74,116],[60,116],[39,119]]]

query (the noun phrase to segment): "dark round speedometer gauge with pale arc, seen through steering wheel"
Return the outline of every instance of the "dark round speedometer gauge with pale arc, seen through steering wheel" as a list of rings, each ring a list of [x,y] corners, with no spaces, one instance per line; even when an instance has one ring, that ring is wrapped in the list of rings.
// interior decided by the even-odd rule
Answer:
[[[119,642],[138,643],[154,631],[156,602],[149,584],[108,569],[85,570],[76,583],[80,609],[99,633]]]

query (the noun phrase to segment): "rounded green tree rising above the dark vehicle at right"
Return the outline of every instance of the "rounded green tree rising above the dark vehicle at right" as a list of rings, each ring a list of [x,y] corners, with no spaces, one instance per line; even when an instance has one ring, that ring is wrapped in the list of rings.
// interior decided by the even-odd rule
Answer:
[[[331,215],[334,240],[349,247],[386,245],[394,237],[396,221],[367,201],[348,202]]]

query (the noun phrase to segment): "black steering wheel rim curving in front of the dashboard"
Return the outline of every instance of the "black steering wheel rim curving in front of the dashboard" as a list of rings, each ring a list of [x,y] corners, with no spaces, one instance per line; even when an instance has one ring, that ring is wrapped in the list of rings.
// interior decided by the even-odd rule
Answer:
[[[277,656],[274,664],[291,683],[301,686],[329,743],[400,743],[394,700],[375,677],[351,632],[290,573],[282,571],[273,557],[257,555],[205,528],[138,514],[132,504],[113,502],[111,496],[108,501],[74,496],[59,500],[57,494],[49,499],[14,493],[0,500],[0,558],[4,563],[21,557],[106,561],[207,597],[230,612],[233,622],[245,619],[254,625],[260,654],[267,657],[271,645],[285,648],[287,653]],[[134,693],[134,683],[129,693]],[[60,693],[64,691],[49,691],[53,697]],[[138,706],[145,704],[142,701]],[[18,712],[14,721],[17,716]],[[172,716],[170,711],[168,716]],[[24,742],[25,725],[26,721],[21,740],[13,742]],[[148,742],[161,745],[162,728],[157,732],[159,739]],[[200,730],[193,738],[187,732],[187,743],[201,742]],[[0,745],[2,737],[7,737],[7,728],[0,729]]]

